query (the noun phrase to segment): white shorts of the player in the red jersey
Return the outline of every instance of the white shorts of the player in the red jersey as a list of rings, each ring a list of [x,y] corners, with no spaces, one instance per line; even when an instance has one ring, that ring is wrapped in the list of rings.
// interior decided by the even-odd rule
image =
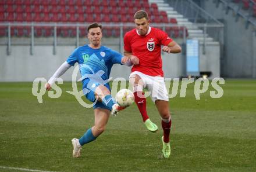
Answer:
[[[141,72],[131,72],[131,76],[138,75],[143,80],[143,88],[147,88],[148,92],[145,92],[145,97],[151,96],[151,100],[155,103],[156,100],[169,101],[168,92],[165,86],[165,79],[161,76],[145,75]]]

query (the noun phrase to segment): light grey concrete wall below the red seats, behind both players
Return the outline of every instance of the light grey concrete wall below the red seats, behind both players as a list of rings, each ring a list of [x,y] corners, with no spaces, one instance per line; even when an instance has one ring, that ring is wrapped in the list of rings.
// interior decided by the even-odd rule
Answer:
[[[37,40],[37,42],[40,42]],[[179,40],[177,41],[179,42]],[[82,45],[82,44],[81,44]],[[119,41],[111,38],[104,38],[103,45],[119,51]],[[42,77],[49,79],[56,69],[61,65],[75,46],[63,45],[57,46],[56,55],[53,54],[51,45],[35,45],[34,54],[30,54],[29,45],[12,45],[11,54],[7,56],[6,45],[0,46],[0,82],[31,82],[35,78]],[[185,51],[185,49],[183,49]],[[202,53],[200,45],[200,69],[201,71],[211,71],[211,78],[220,76],[220,50],[219,45],[208,45],[206,54]],[[162,53],[163,71],[165,78],[179,78],[186,75],[186,56],[184,53],[168,54]],[[70,68],[61,78],[63,80],[72,80]],[[113,78],[129,78],[130,67],[114,65],[111,76]]]

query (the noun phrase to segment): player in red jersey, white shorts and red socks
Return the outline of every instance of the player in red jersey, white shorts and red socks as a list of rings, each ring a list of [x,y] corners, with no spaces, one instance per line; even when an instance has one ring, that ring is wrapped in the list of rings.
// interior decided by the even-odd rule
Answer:
[[[151,99],[162,118],[163,157],[169,158],[171,119],[168,92],[163,78],[161,50],[168,53],[180,53],[182,48],[169,38],[166,32],[150,27],[147,12],[137,11],[134,14],[134,23],[136,28],[126,32],[124,38],[125,56],[129,57],[134,64],[131,68],[130,83],[133,86],[135,102],[143,122],[148,130],[154,132],[158,130],[158,127],[147,115],[143,89],[147,87],[151,92]],[[163,45],[162,49],[161,45]]]

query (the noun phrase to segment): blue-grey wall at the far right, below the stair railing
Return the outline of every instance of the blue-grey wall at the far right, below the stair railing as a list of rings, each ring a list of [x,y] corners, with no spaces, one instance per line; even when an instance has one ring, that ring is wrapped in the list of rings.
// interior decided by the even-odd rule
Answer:
[[[256,35],[253,25],[246,28],[246,21],[232,9],[226,14],[223,3],[204,1],[203,8],[216,19],[222,20],[224,28],[223,76],[231,78],[256,78]]]

